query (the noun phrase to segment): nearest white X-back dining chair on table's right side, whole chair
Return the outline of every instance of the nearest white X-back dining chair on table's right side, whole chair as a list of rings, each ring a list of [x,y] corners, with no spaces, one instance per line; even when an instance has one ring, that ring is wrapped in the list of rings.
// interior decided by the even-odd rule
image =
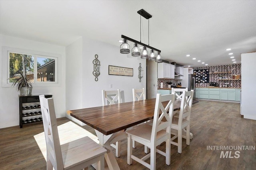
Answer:
[[[162,102],[168,101],[166,107]],[[140,164],[150,168],[150,170],[156,169],[156,152],[166,157],[166,164],[170,165],[170,126],[172,124],[172,113],[174,106],[174,94],[156,95],[156,104],[154,109],[154,119],[152,125],[144,123],[137,126],[134,129],[126,131],[128,134],[128,146],[127,146],[127,163],[132,164],[132,159]],[[169,111],[169,114],[168,114]],[[161,113],[160,113],[161,112]],[[165,121],[162,121],[163,119]],[[138,158],[132,154],[132,140],[141,143],[150,148],[150,153],[143,158]],[[166,150],[156,149],[156,146],[166,142]],[[150,164],[145,162],[150,158]]]

